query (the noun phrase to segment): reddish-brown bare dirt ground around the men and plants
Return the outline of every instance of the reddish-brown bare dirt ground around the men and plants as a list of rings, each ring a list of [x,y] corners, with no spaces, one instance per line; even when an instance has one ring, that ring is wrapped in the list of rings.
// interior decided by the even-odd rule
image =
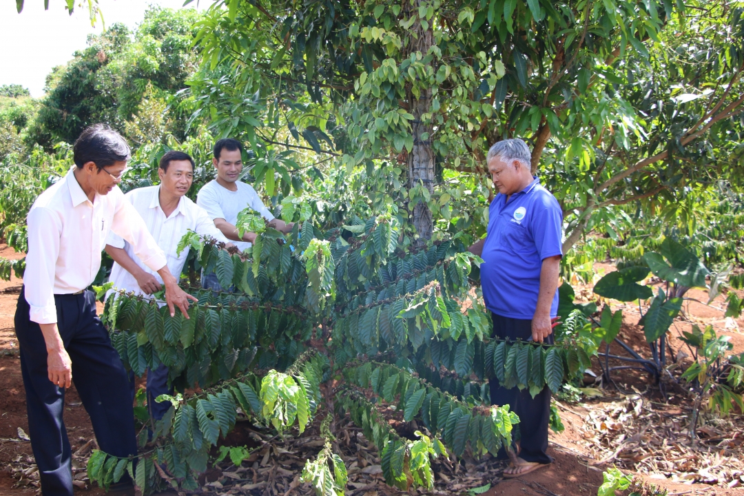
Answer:
[[[17,257],[17,255],[13,254],[13,251],[4,245],[0,245],[0,257]],[[610,265],[604,266],[597,264],[597,269],[609,271],[612,270],[612,267]],[[21,290],[21,284],[22,281],[17,280],[15,277],[10,282],[0,281],[0,390],[3,393],[0,396],[0,495],[30,496],[36,493],[36,488],[32,485],[19,486],[19,480],[17,479],[19,474],[17,469],[19,466],[33,467],[31,466],[31,463],[33,463],[31,443],[22,439],[25,433],[28,432],[28,419],[25,411],[25,393],[21,377],[18,344],[13,329],[13,314],[15,312],[16,300]],[[582,296],[591,297],[592,300],[595,300],[595,295],[592,297],[589,292],[583,292],[581,288],[577,288],[577,297]],[[707,301],[708,299],[705,292],[693,291],[688,296],[701,301]],[[613,306],[615,310],[618,308],[623,308],[624,317],[620,337],[629,343],[637,352],[641,353],[641,355],[650,355],[647,344],[645,344],[643,339],[642,329],[638,326],[638,308],[629,305]],[[713,301],[711,306],[705,306],[702,303],[696,302],[685,303],[684,315],[677,319],[671,332],[674,336],[670,340],[674,356],[680,360],[686,358],[684,357],[685,347],[676,336],[682,330],[689,329],[691,322],[699,323],[700,325],[713,325],[716,332],[731,336],[731,342],[734,344],[734,350],[736,352],[744,351],[744,334],[741,330],[744,329],[744,319],[738,319],[736,321],[726,319],[723,317],[724,312],[725,303],[723,303],[723,297],[720,296]],[[615,350],[615,346],[613,346],[612,352],[620,354],[621,350],[619,347],[618,350]],[[689,358],[687,359],[689,360]],[[618,363],[611,361],[611,364]],[[600,375],[599,367],[595,366],[594,372]],[[591,400],[585,398],[586,401],[577,404],[560,402],[560,415],[565,425],[565,431],[560,434],[551,432],[549,453],[555,460],[551,466],[542,468],[532,474],[527,474],[519,479],[501,480],[501,477],[495,476],[490,480],[493,484],[492,489],[485,494],[489,496],[593,496],[597,494],[597,488],[602,483],[602,471],[612,466],[612,463],[622,461],[623,463],[619,465],[620,468],[623,468],[626,472],[634,473],[635,470],[629,470],[626,467],[634,466],[632,464],[635,463],[633,461],[635,459],[632,457],[623,457],[624,454],[620,452],[618,452],[618,456],[614,457],[612,461],[600,463],[602,459],[598,457],[602,457],[603,454],[594,450],[592,445],[597,442],[601,444],[604,442],[603,439],[609,438],[606,436],[607,433],[602,434],[600,432],[597,434],[595,432],[597,430],[591,425],[591,422],[594,422],[594,419],[599,415],[597,412],[603,409],[608,410],[613,405],[620,405],[622,402],[629,402],[628,404],[631,405],[632,409],[633,405],[638,406],[637,403],[632,403],[638,402],[638,398],[641,398],[641,395],[638,393],[647,393],[647,395],[642,396],[644,399],[648,399],[648,401],[644,402],[643,408],[646,408],[654,415],[658,415],[659,419],[669,418],[676,422],[674,420],[677,418],[676,416],[684,413],[682,411],[684,409],[680,405],[689,404],[689,399],[684,396],[684,391],[670,391],[666,401],[664,401],[664,398],[654,396],[653,393],[648,393],[652,388],[650,387],[649,379],[647,379],[644,373],[621,371],[615,373],[614,379],[621,391],[615,390],[614,387],[607,387],[603,390],[604,394],[600,398]],[[90,448],[91,444],[89,442],[94,439],[94,436],[89,416],[80,404],[80,399],[74,390],[74,386],[66,393],[65,404],[65,425],[67,426],[68,435],[73,444],[73,451],[79,448],[84,448],[83,451],[85,451]],[[647,418],[648,415],[651,415],[651,413],[648,413],[646,416],[641,415],[640,418]],[[640,421],[635,422],[640,425]],[[630,423],[632,424],[633,421]],[[742,425],[742,422],[737,425]],[[628,426],[628,428],[630,427]],[[22,429],[22,432],[19,429]],[[239,436],[240,433],[236,432],[234,435]],[[742,435],[744,437],[744,431]],[[641,437],[638,439],[641,439]],[[648,445],[650,445],[650,442],[646,442],[644,445],[643,441],[639,441],[638,449],[641,451],[643,449],[651,450]],[[723,456],[724,451],[725,449],[722,448],[721,456]],[[732,487],[725,487],[716,483],[690,483],[690,480],[672,480],[673,478],[667,478],[661,469],[656,473],[651,468],[644,468],[643,463],[647,463],[649,459],[653,460],[653,457],[649,455],[638,462],[638,473],[648,482],[668,489],[670,495],[744,495],[744,489],[737,487],[736,483],[729,484]],[[344,458],[344,460],[346,459]],[[362,460],[362,457],[359,457],[359,460]],[[370,463],[374,463],[374,460]],[[366,464],[367,462],[364,462],[363,466],[366,466]],[[468,470],[472,468],[472,466],[468,467]],[[16,468],[16,477],[13,477],[14,468]],[[82,469],[83,467],[80,468]],[[362,466],[359,468],[362,468]],[[30,468],[30,470],[32,469]],[[238,471],[240,470],[239,468]],[[246,470],[248,469],[246,468]],[[362,471],[365,474],[374,473],[365,469],[362,469]],[[350,474],[352,472],[353,469],[350,468]],[[455,473],[457,474],[458,472],[455,471]],[[472,477],[465,477],[465,475],[462,471],[459,476],[456,475],[455,477],[464,477],[463,483],[453,485],[453,482],[450,480],[452,475],[447,477],[446,475],[440,476],[437,474],[437,485],[432,494],[466,494],[464,489],[482,485],[481,483],[474,482]],[[219,471],[217,471],[217,475],[214,475],[214,477],[217,482],[210,483],[209,481],[212,479],[208,474],[205,481],[208,483],[208,487],[204,488],[205,492],[208,491],[215,495],[227,494],[218,490],[222,488],[222,485],[219,483]],[[378,477],[379,479],[380,476],[376,474],[369,477]],[[224,479],[222,483],[225,483]],[[470,484],[469,486],[467,486],[468,483]],[[463,488],[462,486],[464,484],[466,487]],[[98,488],[90,489],[89,483],[85,480],[80,481],[80,486],[80,489],[76,489],[76,494],[80,496],[99,496],[103,494]],[[82,486],[85,486],[86,489],[82,489]],[[237,486],[234,487],[237,488]],[[347,491],[347,494],[354,496],[396,494],[396,492],[391,492],[386,486],[385,488],[377,486],[378,489],[371,489],[371,485],[355,484],[353,487],[354,489]],[[455,491],[455,488],[458,490]],[[306,489],[303,486],[297,486],[295,484],[294,487],[289,486],[285,494],[306,494]],[[240,491],[240,489],[231,490],[230,493],[254,494],[253,492]]]

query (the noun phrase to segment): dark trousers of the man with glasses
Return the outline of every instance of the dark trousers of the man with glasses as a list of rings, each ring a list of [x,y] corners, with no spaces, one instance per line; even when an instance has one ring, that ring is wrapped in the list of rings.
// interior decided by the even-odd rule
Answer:
[[[72,361],[72,379],[91,417],[98,446],[117,457],[137,454],[129,379],[96,315],[94,294],[55,294],[54,301],[57,327]],[[70,442],[62,419],[65,390],[48,379],[44,336],[28,311],[22,289],[16,306],[16,336],[33,457],[42,494],[72,496]]]

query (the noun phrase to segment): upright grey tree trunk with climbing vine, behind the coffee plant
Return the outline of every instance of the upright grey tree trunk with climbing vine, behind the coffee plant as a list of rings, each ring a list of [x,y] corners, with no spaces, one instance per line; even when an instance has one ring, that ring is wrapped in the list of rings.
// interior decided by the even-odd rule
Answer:
[[[403,8],[406,16],[418,13],[421,0],[413,2],[405,1]],[[420,52],[423,57],[429,52],[429,48],[434,44],[434,33],[432,26],[424,30],[420,19],[411,26],[411,33],[406,40],[405,56]],[[424,122],[422,116],[431,112],[432,106],[432,89],[426,88],[420,92],[418,97],[411,91],[410,84],[406,88],[406,97],[411,106],[411,115],[414,120],[411,122],[413,131],[414,146],[408,153],[408,188],[416,187],[423,183],[423,186],[434,193],[434,152],[432,151],[432,124],[430,120]],[[426,133],[426,139],[421,135]],[[418,239],[416,245],[424,245],[427,240],[432,239],[434,231],[434,220],[432,219],[432,210],[425,202],[418,202],[413,209],[413,222]]]

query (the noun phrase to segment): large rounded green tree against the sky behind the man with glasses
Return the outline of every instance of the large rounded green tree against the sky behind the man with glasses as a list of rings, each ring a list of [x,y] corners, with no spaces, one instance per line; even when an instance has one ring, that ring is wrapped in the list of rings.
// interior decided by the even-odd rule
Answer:
[[[91,39],[65,66],[47,78],[47,95],[28,140],[51,149],[72,143],[86,126],[106,122],[135,143],[159,141],[166,133],[185,137],[182,103],[193,70],[193,9],[154,7],[134,33],[120,24]]]

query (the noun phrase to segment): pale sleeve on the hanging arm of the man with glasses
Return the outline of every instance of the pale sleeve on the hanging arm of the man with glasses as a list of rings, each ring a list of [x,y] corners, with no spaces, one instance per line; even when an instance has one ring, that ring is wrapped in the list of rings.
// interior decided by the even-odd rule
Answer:
[[[25,298],[31,307],[29,318],[36,323],[56,323],[54,271],[60,255],[62,224],[44,207],[28,213],[28,254],[23,276]]]

